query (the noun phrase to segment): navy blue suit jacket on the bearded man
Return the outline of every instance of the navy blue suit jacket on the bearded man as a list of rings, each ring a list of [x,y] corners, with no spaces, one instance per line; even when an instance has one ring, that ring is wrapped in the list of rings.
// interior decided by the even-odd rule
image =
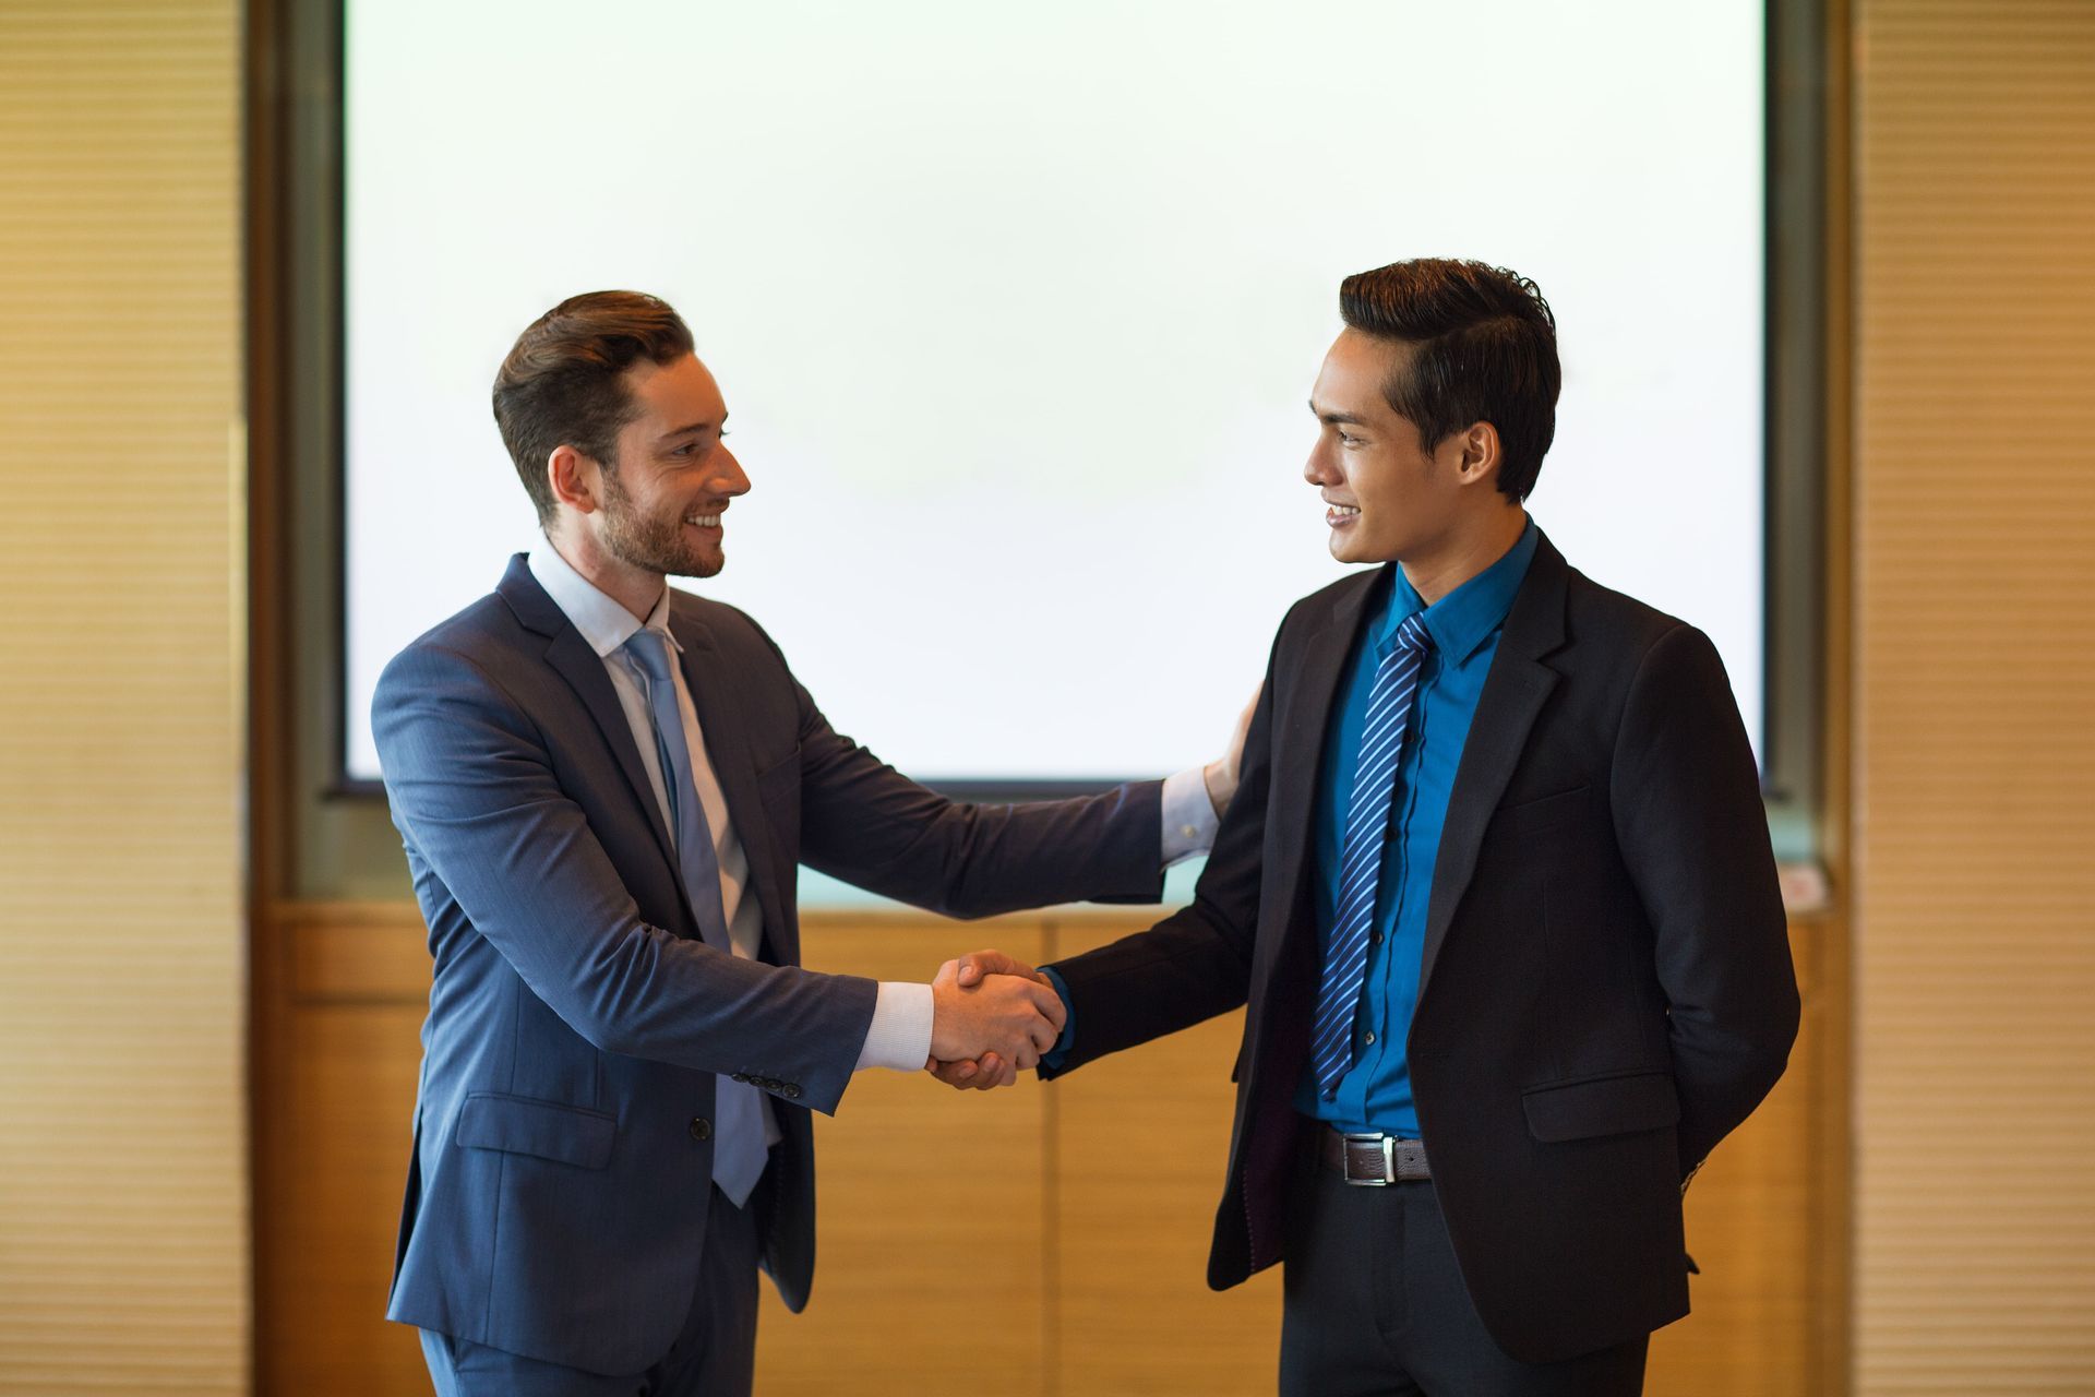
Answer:
[[[1156,783],[955,804],[840,737],[742,612],[672,593],[670,630],[758,961],[698,938],[603,662],[522,555],[371,706],[436,961],[388,1315],[595,1372],[639,1372],[689,1311],[714,1074],[771,1091],[784,1139],[750,1206],[779,1294],[807,1303],[809,1110],[836,1110],[876,986],[798,968],[796,863],[964,917],[1163,886]]]

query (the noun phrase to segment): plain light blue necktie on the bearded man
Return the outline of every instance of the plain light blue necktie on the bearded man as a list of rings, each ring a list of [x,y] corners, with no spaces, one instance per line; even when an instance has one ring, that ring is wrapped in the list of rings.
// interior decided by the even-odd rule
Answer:
[[[641,628],[626,641],[624,651],[641,693],[647,695],[662,785],[677,829],[677,861],[683,867],[683,886],[691,894],[698,934],[714,951],[733,955],[727,913],[721,909],[721,861],[712,852],[712,827],[706,823],[706,806],[698,802],[698,781],[691,777],[691,750],[683,739],[683,712],[677,708],[677,683],[668,668],[668,641],[658,630]],[[756,1087],[729,1077],[714,1079],[712,1181],[740,1208],[756,1188],[765,1160],[765,1116]]]

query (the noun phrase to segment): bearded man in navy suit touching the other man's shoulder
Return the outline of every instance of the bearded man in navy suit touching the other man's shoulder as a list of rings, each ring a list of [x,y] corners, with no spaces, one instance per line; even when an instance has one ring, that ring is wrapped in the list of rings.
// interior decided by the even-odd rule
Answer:
[[[547,547],[385,668],[371,723],[429,924],[392,1320],[440,1393],[746,1393],[756,1271],[815,1263],[811,1110],[851,1074],[1010,1079],[1060,999],[798,966],[794,865],[949,915],[1156,901],[1234,767],[1029,806],[945,800],[838,735],[721,570],[748,490],[662,302],[572,297],[494,417]],[[1203,779],[1205,777],[1205,779]]]

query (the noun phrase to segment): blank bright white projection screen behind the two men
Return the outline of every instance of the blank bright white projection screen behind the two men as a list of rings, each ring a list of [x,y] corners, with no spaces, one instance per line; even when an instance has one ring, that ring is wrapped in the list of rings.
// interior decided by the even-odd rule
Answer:
[[[1762,6],[348,0],[344,769],[385,660],[545,547],[488,408],[557,300],[672,302],[752,492],[681,582],[934,781],[1213,756],[1343,574],[1337,287],[1534,276],[1531,513],[1718,641],[1760,744]]]

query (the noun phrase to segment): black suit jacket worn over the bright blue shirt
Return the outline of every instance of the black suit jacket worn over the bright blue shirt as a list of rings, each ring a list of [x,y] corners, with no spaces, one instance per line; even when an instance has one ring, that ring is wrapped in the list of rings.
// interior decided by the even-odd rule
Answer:
[[[1282,1259],[1318,945],[1311,811],[1374,574],[1280,624],[1192,905],[1062,961],[1066,1072],[1251,1005],[1209,1284]],[[1448,804],[1408,1054],[1456,1259],[1506,1353],[1686,1313],[1680,1185],[1781,1077],[1798,989],[1760,781],[1716,647],[1544,538]]]

